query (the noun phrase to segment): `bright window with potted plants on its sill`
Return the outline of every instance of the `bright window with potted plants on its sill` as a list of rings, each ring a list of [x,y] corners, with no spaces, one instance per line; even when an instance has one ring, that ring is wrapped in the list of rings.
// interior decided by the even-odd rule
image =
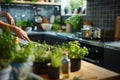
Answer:
[[[61,15],[85,15],[86,0],[61,0]]]

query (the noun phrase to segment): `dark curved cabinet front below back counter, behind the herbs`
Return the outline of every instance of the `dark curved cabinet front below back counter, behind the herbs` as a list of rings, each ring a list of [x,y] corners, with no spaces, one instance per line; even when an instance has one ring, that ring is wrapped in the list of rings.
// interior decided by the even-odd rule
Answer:
[[[49,34],[31,34],[28,35],[30,40],[35,42],[46,42],[47,44],[54,45],[54,44],[62,44],[67,43],[67,37],[65,36],[57,36],[57,35],[49,35]]]

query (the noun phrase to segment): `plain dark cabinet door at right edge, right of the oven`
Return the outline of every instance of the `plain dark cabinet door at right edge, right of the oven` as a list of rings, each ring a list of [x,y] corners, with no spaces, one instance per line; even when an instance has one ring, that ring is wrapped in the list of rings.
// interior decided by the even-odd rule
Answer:
[[[104,67],[120,73],[120,51],[105,48]]]

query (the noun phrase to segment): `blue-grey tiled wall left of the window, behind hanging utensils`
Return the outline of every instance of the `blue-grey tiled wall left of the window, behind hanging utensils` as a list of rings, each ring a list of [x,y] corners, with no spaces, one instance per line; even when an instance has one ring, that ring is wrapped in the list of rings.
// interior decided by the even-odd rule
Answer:
[[[9,12],[15,20],[33,20],[34,10],[37,8],[38,15],[45,16],[48,20],[52,15],[60,15],[59,6],[29,5],[29,4],[1,4],[2,11]],[[5,19],[3,18],[5,21]]]

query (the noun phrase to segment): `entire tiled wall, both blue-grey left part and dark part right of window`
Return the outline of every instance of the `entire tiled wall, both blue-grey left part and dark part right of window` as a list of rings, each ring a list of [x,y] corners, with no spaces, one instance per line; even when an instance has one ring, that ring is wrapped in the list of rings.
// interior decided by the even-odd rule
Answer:
[[[60,10],[54,6],[37,6],[43,7],[40,13],[48,19],[52,14],[60,14]],[[25,14],[24,19],[34,19],[33,6],[4,6],[2,9],[11,13],[15,20],[23,19],[21,16]],[[55,11],[56,10],[56,11]],[[15,17],[17,15],[17,18]],[[114,26],[116,16],[120,15],[119,0],[87,0],[87,15],[83,16],[84,21],[90,20],[94,27],[100,27],[104,30],[104,41],[114,40]],[[65,18],[65,17],[63,17]]]

